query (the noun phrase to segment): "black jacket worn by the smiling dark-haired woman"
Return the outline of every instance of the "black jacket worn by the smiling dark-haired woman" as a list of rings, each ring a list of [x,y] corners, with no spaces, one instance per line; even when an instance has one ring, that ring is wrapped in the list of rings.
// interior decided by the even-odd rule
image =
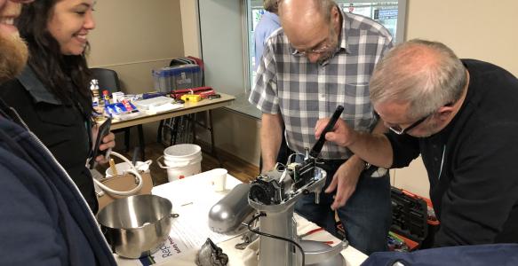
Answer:
[[[92,208],[98,203],[92,175],[85,167],[90,152],[90,121],[72,103],[63,104],[27,66],[20,76],[0,87],[0,98],[12,106],[32,132],[49,148],[72,177]]]

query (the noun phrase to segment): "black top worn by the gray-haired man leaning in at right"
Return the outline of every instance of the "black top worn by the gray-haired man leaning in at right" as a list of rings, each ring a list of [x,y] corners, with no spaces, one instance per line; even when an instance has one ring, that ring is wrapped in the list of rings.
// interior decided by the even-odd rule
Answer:
[[[421,154],[441,222],[434,246],[518,243],[518,80],[463,59],[470,74],[455,118],[431,137],[388,133],[393,168]]]

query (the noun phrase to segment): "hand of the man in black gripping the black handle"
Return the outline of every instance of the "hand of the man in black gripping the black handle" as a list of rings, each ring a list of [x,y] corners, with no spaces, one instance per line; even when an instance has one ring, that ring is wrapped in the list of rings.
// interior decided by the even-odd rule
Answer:
[[[315,125],[315,138],[318,139],[320,134],[322,134],[323,129],[330,121],[329,118],[323,118],[316,121]],[[356,132],[354,129],[351,129],[347,126],[346,121],[339,119],[335,124],[334,128],[325,135],[325,139],[331,142],[336,143],[340,146],[347,146],[352,144],[355,141]]]

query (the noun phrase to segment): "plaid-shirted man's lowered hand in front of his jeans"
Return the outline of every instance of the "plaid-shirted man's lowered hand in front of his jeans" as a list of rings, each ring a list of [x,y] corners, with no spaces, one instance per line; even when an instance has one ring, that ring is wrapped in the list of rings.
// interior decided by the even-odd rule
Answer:
[[[337,191],[334,201],[331,204],[331,209],[336,210],[339,207],[345,206],[347,200],[356,190],[356,184],[363,171],[363,161],[356,156],[346,160],[331,181],[331,184],[325,190],[326,193]]]

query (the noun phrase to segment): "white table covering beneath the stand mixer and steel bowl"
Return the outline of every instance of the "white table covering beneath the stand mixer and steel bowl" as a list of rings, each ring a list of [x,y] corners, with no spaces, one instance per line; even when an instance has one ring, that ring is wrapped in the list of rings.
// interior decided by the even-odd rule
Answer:
[[[210,207],[224,197],[229,190],[240,183],[241,182],[234,176],[227,175],[227,191],[214,192],[211,185],[211,171],[207,171],[178,181],[155,186],[152,193],[171,200],[173,212],[177,212],[179,215],[182,215],[182,213],[192,215],[193,207],[204,207],[207,210],[210,209]],[[199,212],[196,215],[199,216],[197,218],[199,220],[196,222],[205,221],[207,219],[208,212]],[[299,215],[295,215],[295,219],[298,223],[297,231],[299,234],[318,228],[315,223],[310,223]],[[192,223],[196,224],[195,222]],[[206,227],[208,228],[208,226]],[[175,228],[171,229],[171,233],[173,233],[173,230],[175,230]],[[338,245],[340,243],[339,239],[334,238],[327,231],[316,232],[307,236],[305,239],[318,241],[331,240],[333,241],[333,245]],[[229,266],[256,266],[258,264],[257,254],[259,250],[259,240],[252,242],[251,245],[247,246],[243,250],[235,249],[235,244],[240,242],[242,242],[242,240],[238,236],[232,239],[226,239],[217,243],[217,245],[223,249],[225,254],[228,255]],[[193,266],[195,265],[195,255],[197,251],[197,249],[186,250],[179,256],[169,257],[166,261],[157,262],[155,265]],[[347,266],[360,265],[367,259],[367,255],[356,250],[353,246],[348,246],[341,252],[341,254],[346,258]],[[118,255],[115,256],[117,263],[122,266],[147,265],[146,262],[142,263],[139,262],[139,260],[128,260],[121,258]]]

